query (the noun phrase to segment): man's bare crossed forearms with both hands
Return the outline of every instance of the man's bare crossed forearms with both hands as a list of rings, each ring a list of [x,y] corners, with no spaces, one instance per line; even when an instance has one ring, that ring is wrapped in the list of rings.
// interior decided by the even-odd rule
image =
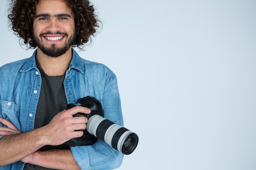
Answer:
[[[81,137],[87,119],[72,117],[75,113],[90,113],[85,107],[76,106],[58,113],[52,121],[42,128],[21,133],[13,124],[0,117],[0,166],[16,161],[31,163],[45,168],[58,170],[80,170],[70,149],[37,151],[45,145],[60,145],[75,137]],[[3,156],[4,155],[4,156]]]

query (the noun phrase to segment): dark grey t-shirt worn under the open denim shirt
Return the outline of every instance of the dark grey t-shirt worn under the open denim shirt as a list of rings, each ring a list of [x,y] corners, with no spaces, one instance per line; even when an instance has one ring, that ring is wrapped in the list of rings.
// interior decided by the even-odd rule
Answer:
[[[37,64],[38,65],[38,64]],[[42,86],[40,90],[40,96],[38,100],[38,105],[36,108],[36,118],[34,128],[40,128],[49,124],[52,118],[67,106],[67,98],[64,89],[64,79],[65,75],[61,76],[51,76],[49,77],[44,73],[44,71],[38,66],[41,73]],[[59,146],[44,146],[39,150],[49,150],[49,149],[69,149],[70,146],[62,144]],[[41,166],[31,165],[29,163],[25,164],[23,170],[52,170],[49,168],[43,168]]]

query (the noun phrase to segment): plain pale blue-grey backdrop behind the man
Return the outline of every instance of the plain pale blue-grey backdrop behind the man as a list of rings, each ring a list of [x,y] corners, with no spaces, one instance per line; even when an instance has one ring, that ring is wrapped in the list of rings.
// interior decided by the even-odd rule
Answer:
[[[103,30],[79,54],[116,73],[139,135],[119,170],[255,170],[256,1],[92,2]],[[33,52],[8,31],[5,4],[0,66]]]

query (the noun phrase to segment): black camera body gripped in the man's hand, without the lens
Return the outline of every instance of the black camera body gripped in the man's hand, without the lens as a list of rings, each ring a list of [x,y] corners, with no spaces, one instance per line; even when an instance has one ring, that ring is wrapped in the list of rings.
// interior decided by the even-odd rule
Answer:
[[[68,104],[66,110],[73,108],[74,106],[87,107],[91,110],[91,112],[89,114],[76,113],[75,115],[73,115],[73,117],[83,116],[83,117],[86,117],[88,120],[93,115],[100,115],[101,117],[104,117],[104,110],[101,106],[101,103],[95,97],[87,96],[87,97],[78,99],[75,104]],[[88,146],[88,145],[94,144],[95,142],[97,142],[97,137],[90,134],[85,129],[85,130],[83,130],[82,137],[70,139],[69,141],[65,142],[65,144],[67,144],[69,146]]]

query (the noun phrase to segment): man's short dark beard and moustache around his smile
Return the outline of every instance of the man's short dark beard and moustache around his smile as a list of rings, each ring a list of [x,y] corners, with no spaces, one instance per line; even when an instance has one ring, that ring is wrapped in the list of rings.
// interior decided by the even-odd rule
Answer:
[[[72,46],[73,42],[75,42],[76,40],[76,33],[75,31],[73,32],[73,34],[66,40],[66,42],[64,43],[64,45],[62,47],[57,47],[56,44],[52,44],[51,47],[46,47],[43,44],[43,35],[49,35],[49,34],[62,34],[65,35],[66,37],[69,37],[67,33],[60,33],[60,32],[56,32],[56,33],[41,33],[39,35],[39,38],[36,37],[34,31],[32,31],[32,40],[34,41],[34,43],[36,44],[36,46],[38,46],[38,48],[45,54],[48,55],[50,57],[59,57],[63,54],[65,54],[69,49],[70,46]],[[41,39],[40,39],[41,38]]]

